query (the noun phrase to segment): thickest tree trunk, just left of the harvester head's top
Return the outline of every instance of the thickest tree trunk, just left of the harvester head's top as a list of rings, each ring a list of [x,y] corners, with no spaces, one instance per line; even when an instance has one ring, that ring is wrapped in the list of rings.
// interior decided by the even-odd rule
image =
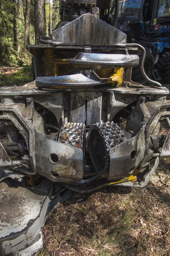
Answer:
[[[45,36],[45,0],[35,0],[35,44]]]

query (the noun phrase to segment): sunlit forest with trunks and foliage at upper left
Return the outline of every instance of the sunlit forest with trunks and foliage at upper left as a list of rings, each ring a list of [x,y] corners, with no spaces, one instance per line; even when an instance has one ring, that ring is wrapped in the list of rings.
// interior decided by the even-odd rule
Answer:
[[[59,0],[0,0],[0,66],[31,62],[27,44],[39,44],[59,22]]]

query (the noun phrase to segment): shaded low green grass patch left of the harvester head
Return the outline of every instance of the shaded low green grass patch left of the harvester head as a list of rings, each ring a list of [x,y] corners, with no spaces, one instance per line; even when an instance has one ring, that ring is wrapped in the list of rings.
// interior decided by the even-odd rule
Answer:
[[[3,75],[0,77],[0,86],[24,85],[33,81],[32,65],[26,65],[22,70],[17,71],[12,76]]]

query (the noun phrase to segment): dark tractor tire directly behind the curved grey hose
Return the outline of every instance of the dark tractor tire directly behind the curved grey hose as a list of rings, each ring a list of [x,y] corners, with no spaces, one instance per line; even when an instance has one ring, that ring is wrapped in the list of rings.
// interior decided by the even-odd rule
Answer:
[[[137,67],[133,67],[132,69],[132,81],[147,86],[148,81],[144,79],[140,70],[141,59],[142,59],[142,55],[139,55],[139,65]],[[153,55],[151,52],[146,50],[146,57],[144,60],[144,71],[150,79],[152,79],[152,76],[153,76],[153,67],[154,67]]]

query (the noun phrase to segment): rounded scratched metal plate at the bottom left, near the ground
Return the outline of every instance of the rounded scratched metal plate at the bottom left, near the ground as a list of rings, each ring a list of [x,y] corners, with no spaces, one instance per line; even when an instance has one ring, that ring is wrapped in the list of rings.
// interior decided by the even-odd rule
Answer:
[[[1,256],[23,250],[37,239],[50,201],[51,184],[45,180],[34,189],[18,186],[0,190]]]

